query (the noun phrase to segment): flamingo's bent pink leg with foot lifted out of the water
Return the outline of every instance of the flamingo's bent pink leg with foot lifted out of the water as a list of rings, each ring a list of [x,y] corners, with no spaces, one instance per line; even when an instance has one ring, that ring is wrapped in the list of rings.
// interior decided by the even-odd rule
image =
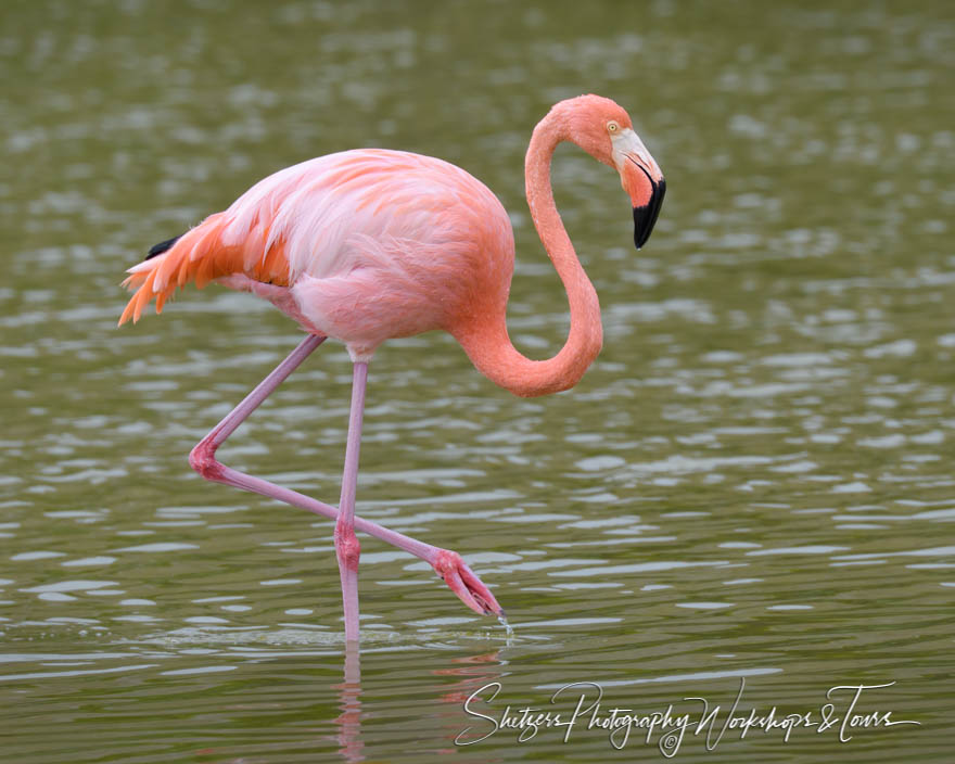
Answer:
[[[310,496],[306,496],[305,494],[300,494],[297,491],[283,488],[282,486],[270,483],[266,480],[263,480],[262,478],[255,478],[244,472],[240,472],[239,470],[233,470],[231,467],[227,467],[218,459],[216,459],[216,449],[222,443],[225,443],[226,440],[233,432],[235,432],[237,428],[243,421],[245,421],[245,419],[256,408],[258,408],[262,402],[265,400],[285,380],[285,378],[289,377],[289,374],[291,374],[296,368],[298,368],[302,361],[304,361],[313,353],[313,351],[315,351],[315,348],[318,347],[324,340],[326,338],[318,334],[309,334],[308,336],[306,336],[298,344],[298,346],[294,351],[292,351],[288,358],[279,364],[279,366],[277,366],[271,371],[271,373],[268,374],[268,377],[259,382],[255,390],[253,390],[245,397],[245,399],[242,400],[242,403],[240,403],[234,409],[226,415],[222,421],[216,424],[216,426],[212,429],[208,435],[206,435],[204,438],[202,438],[202,441],[196,444],[196,446],[192,449],[192,453],[189,455],[189,463],[196,472],[199,472],[200,475],[208,481],[222,483],[225,485],[231,485],[237,488],[242,488],[243,491],[251,491],[253,493],[260,494],[262,496],[265,496],[267,498],[284,501],[285,504],[290,504],[293,507],[298,507],[300,509],[304,509],[314,514],[320,514],[321,517],[328,518],[329,520],[335,520],[335,526],[338,531],[339,510],[335,507],[323,504],[322,501],[318,501]],[[367,368],[365,371],[367,373]],[[354,408],[355,407],[353,406],[353,413]],[[352,437],[352,430],[353,428],[349,423],[349,442]],[[360,436],[360,425],[358,436]],[[354,454],[354,469],[356,478],[358,469],[357,461],[358,449],[356,443]],[[344,487],[345,486],[343,482],[343,494]],[[461,599],[461,601],[469,608],[471,608],[471,610],[478,613],[494,613],[495,615],[502,614],[504,611],[497,603],[497,600],[494,598],[491,589],[488,589],[481,582],[481,580],[467,565],[467,563],[464,563],[464,561],[457,552],[450,551],[448,549],[442,549],[441,547],[435,547],[431,544],[425,544],[424,542],[420,542],[417,538],[411,538],[410,536],[397,533],[396,531],[391,531],[382,525],[379,525],[375,522],[365,520],[364,518],[355,515],[354,486],[352,492],[353,506],[351,510],[352,521],[349,524],[353,529],[361,531],[362,533],[367,533],[370,536],[374,536],[375,538],[379,538],[386,544],[391,544],[392,546],[395,546],[398,549],[403,549],[428,562],[432,568],[434,568],[434,570],[445,581],[445,583],[447,583],[450,589]],[[338,556],[338,546],[335,551]],[[357,615],[357,594],[355,612]]]

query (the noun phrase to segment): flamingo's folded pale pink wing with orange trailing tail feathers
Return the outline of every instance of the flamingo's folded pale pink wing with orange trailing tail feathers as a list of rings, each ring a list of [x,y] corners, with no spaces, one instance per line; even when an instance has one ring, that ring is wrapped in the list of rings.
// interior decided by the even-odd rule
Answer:
[[[187,283],[202,289],[241,275],[292,286],[303,275],[330,279],[361,268],[393,270],[402,254],[453,257],[473,243],[469,234],[486,227],[488,215],[504,220],[512,241],[497,198],[441,160],[375,149],[309,160],[264,178],[225,212],[153,246],[128,270],[124,285],[136,293],[119,323],[138,321],[153,298],[162,311]]]

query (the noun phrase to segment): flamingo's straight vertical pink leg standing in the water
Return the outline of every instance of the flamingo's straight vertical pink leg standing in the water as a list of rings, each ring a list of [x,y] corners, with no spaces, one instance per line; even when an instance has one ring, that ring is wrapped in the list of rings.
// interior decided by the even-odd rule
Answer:
[[[355,536],[355,492],[358,485],[358,451],[361,447],[361,419],[365,413],[365,387],[368,364],[355,364],[352,377],[352,412],[348,416],[348,444],[345,447],[345,473],[342,500],[335,522],[335,556],[342,576],[345,606],[345,640],[358,639],[358,557],[361,547]]]

